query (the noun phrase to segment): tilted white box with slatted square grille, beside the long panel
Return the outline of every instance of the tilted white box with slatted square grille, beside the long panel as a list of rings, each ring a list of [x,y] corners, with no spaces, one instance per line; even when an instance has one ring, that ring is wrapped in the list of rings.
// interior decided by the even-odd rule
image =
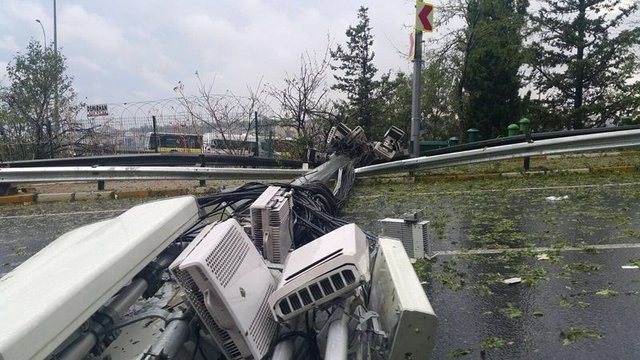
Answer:
[[[227,359],[268,352],[277,323],[267,298],[276,283],[235,219],[204,228],[169,269]]]

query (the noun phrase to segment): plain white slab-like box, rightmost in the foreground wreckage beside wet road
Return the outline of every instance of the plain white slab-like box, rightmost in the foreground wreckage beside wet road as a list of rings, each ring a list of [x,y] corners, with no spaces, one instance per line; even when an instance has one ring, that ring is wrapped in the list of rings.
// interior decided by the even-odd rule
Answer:
[[[389,343],[382,359],[430,359],[438,319],[402,243],[380,237],[369,309],[378,313]]]

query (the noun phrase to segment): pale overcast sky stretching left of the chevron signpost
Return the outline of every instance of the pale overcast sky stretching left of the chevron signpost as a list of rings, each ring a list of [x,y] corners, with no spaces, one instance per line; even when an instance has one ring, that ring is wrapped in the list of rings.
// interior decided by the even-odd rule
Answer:
[[[79,99],[89,104],[174,97],[178,81],[195,93],[195,75],[215,91],[278,84],[302,52],[345,43],[360,5],[369,8],[375,65],[409,71],[413,0],[57,1],[58,48]],[[53,41],[53,0],[0,0],[0,83],[30,39]]]

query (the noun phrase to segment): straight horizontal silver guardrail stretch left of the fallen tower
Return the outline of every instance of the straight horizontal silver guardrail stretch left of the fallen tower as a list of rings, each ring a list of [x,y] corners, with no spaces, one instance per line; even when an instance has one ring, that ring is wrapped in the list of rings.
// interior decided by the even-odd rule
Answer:
[[[100,180],[291,180],[305,169],[245,169],[170,166],[0,168],[0,183]]]

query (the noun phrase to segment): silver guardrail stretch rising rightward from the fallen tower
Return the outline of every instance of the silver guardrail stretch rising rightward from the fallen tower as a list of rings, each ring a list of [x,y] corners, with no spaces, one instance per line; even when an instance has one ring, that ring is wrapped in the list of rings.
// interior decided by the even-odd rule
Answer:
[[[356,176],[429,170],[447,166],[466,165],[487,161],[545,156],[572,152],[598,151],[640,146],[640,129],[578,135],[538,140],[503,146],[486,147],[433,156],[398,160],[364,166],[356,169]]]

